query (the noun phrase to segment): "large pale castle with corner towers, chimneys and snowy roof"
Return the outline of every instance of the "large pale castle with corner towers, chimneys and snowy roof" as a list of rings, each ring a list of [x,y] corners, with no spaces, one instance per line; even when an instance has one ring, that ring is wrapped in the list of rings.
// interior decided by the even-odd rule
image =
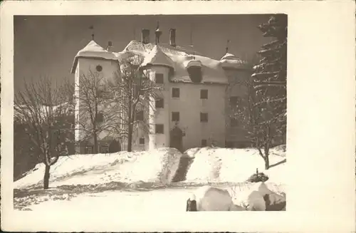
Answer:
[[[75,74],[75,95],[79,94],[80,76],[95,72],[106,79],[120,72],[120,60],[141,56],[140,67],[145,68],[151,81],[162,86],[159,99],[150,104],[147,116],[148,133],[135,130],[132,149],[150,150],[157,147],[177,147],[184,151],[192,147],[246,147],[249,145],[242,125],[231,115],[241,100],[246,100],[248,88],[244,81],[251,77],[246,63],[231,53],[220,60],[206,57],[192,47],[176,44],[176,30],[169,30],[169,43],[160,43],[162,31],[155,31],[155,43],[150,43],[150,30],[142,29],[141,41],[130,41],[120,52],[103,48],[90,41],[78,51],[71,73]],[[80,109],[80,100],[75,113]],[[119,113],[118,113],[119,114]],[[104,113],[105,119],[105,113]],[[80,140],[80,130],[75,139]],[[101,152],[107,150],[108,133],[99,135]],[[120,140],[120,139],[117,139]],[[93,143],[93,140],[91,140]],[[125,140],[120,140],[122,150]],[[90,140],[79,152],[90,152]],[[89,149],[88,149],[89,148]]]

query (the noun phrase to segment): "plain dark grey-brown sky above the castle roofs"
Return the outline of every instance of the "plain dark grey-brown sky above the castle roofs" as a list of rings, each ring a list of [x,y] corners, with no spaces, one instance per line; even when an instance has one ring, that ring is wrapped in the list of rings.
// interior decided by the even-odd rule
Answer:
[[[173,28],[178,46],[192,41],[199,53],[220,59],[229,40],[229,53],[249,58],[268,41],[257,28],[267,20],[268,15],[263,14],[14,16],[14,91],[23,88],[24,80],[36,81],[41,76],[73,81],[73,59],[89,43],[92,33],[100,46],[105,48],[110,40],[112,51],[118,52],[132,39],[140,40],[142,29],[150,29],[150,41],[154,42],[159,21],[162,43],[169,42],[169,29]]]

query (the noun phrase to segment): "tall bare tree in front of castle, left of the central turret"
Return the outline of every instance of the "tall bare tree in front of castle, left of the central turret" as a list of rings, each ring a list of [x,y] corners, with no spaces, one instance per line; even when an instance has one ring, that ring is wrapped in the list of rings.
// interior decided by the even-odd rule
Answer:
[[[127,139],[127,151],[132,151],[132,139],[135,130],[140,128],[144,133],[150,132],[150,108],[159,96],[161,86],[150,79],[150,72],[140,67],[142,58],[135,56],[120,61],[120,73],[110,85],[112,109],[116,113],[117,134]]]

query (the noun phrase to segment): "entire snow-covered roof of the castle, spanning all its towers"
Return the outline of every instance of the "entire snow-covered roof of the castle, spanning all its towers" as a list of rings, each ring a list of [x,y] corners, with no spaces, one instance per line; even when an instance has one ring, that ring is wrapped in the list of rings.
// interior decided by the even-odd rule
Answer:
[[[244,61],[231,53],[226,53],[221,60],[209,58],[201,53],[194,51],[191,46],[171,46],[167,43],[142,43],[140,41],[130,41],[123,51],[113,53],[105,50],[95,41],[90,41],[85,48],[80,50],[75,56],[72,73],[75,72],[75,66],[79,57],[100,57],[121,61],[134,57],[142,58],[141,66],[159,65],[172,68],[172,82],[192,83],[189,78],[187,68],[190,66],[201,67],[201,83],[220,83],[227,84],[224,68],[244,68]]]

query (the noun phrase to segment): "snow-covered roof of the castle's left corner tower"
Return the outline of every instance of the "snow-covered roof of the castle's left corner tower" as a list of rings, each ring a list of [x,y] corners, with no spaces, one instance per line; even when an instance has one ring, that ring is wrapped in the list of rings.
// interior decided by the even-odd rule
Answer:
[[[114,53],[107,51],[95,41],[90,41],[87,46],[78,51],[74,58],[71,73],[75,73],[75,68],[78,64],[78,58],[102,58],[106,60],[117,60]]]

